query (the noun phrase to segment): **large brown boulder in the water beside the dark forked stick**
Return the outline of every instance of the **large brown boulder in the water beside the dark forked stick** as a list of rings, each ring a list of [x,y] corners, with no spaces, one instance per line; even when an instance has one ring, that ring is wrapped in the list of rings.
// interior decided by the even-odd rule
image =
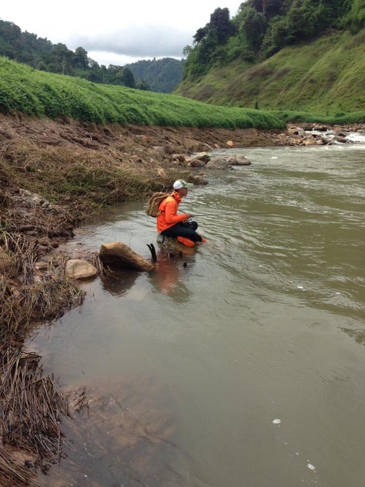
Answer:
[[[137,269],[140,271],[153,271],[155,266],[146,261],[144,257],[137,254],[123,242],[111,242],[102,244],[100,247],[99,258],[101,262],[117,267]]]

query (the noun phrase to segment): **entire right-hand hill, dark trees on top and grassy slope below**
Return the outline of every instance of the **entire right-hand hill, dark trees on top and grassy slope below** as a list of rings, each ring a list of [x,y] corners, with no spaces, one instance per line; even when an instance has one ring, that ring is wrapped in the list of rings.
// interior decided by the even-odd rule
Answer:
[[[364,106],[365,0],[248,0],[217,8],[186,46],[177,94],[215,104]]]

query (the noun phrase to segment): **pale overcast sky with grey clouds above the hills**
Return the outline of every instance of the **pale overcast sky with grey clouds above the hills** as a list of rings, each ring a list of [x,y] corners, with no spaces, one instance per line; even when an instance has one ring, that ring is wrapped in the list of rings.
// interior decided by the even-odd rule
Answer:
[[[99,64],[153,57],[182,57],[183,47],[217,7],[231,16],[242,0],[15,0],[3,1],[0,18],[54,44],[84,47]]]

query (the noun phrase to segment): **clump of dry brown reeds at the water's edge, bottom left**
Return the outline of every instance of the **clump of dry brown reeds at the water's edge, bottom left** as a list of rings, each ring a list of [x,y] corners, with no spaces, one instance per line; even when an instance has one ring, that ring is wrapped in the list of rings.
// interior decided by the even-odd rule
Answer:
[[[69,412],[51,378],[43,376],[39,360],[17,347],[0,354],[0,435],[3,444],[29,455],[27,467],[45,473],[50,461],[59,462],[63,442],[59,415]],[[1,473],[11,477],[13,470]]]

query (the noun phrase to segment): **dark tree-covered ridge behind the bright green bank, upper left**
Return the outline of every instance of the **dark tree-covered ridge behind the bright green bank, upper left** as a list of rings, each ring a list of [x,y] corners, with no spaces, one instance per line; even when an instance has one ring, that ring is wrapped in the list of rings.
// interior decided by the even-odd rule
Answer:
[[[83,47],[77,47],[73,52],[65,44],[52,44],[47,38],[21,32],[18,25],[4,20],[0,20],[0,56],[29,64],[40,71],[78,76],[94,83],[149,89],[142,78],[134,78],[128,67],[113,64],[108,68],[103,64],[99,66],[88,57]]]

